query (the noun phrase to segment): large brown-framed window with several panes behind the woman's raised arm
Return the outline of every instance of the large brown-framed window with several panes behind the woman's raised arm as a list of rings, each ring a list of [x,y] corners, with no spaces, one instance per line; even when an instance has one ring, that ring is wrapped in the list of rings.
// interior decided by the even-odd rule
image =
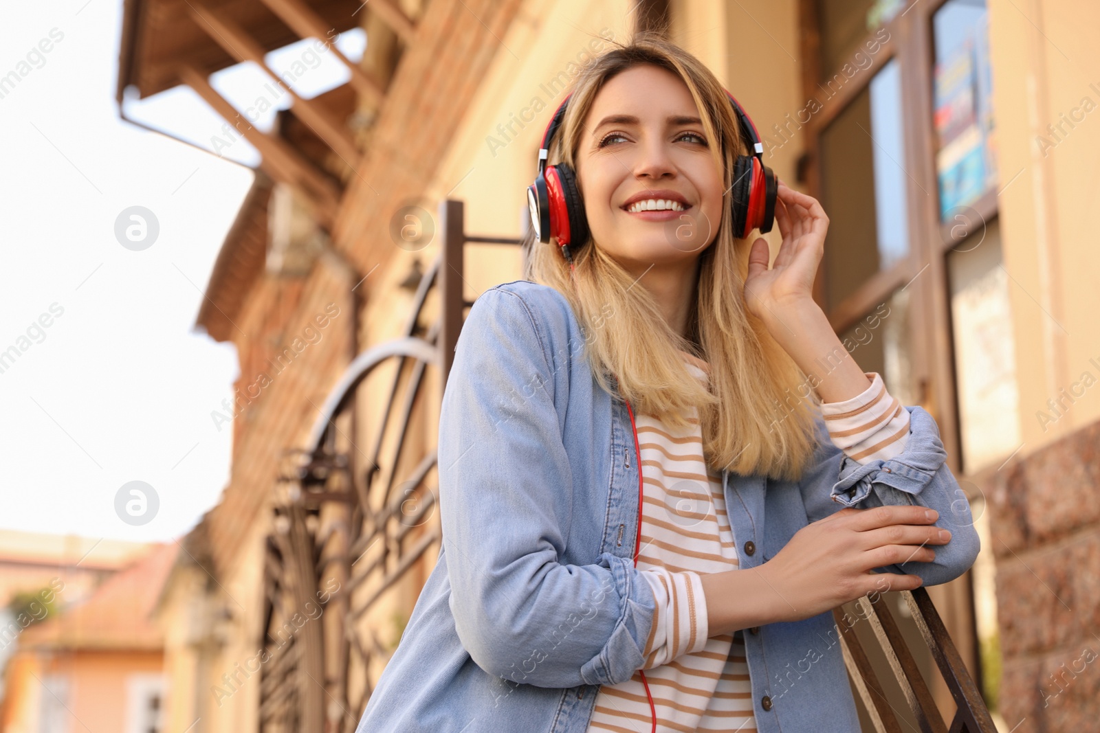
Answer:
[[[800,181],[829,216],[814,297],[865,371],[933,414],[971,491],[966,473],[1019,447],[986,1],[800,7],[803,91],[820,104]],[[941,592],[953,636],[996,633],[971,625],[965,584]],[[977,669],[974,649],[960,652]],[[887,692],[895,711],[908,708],[899,696]]]

